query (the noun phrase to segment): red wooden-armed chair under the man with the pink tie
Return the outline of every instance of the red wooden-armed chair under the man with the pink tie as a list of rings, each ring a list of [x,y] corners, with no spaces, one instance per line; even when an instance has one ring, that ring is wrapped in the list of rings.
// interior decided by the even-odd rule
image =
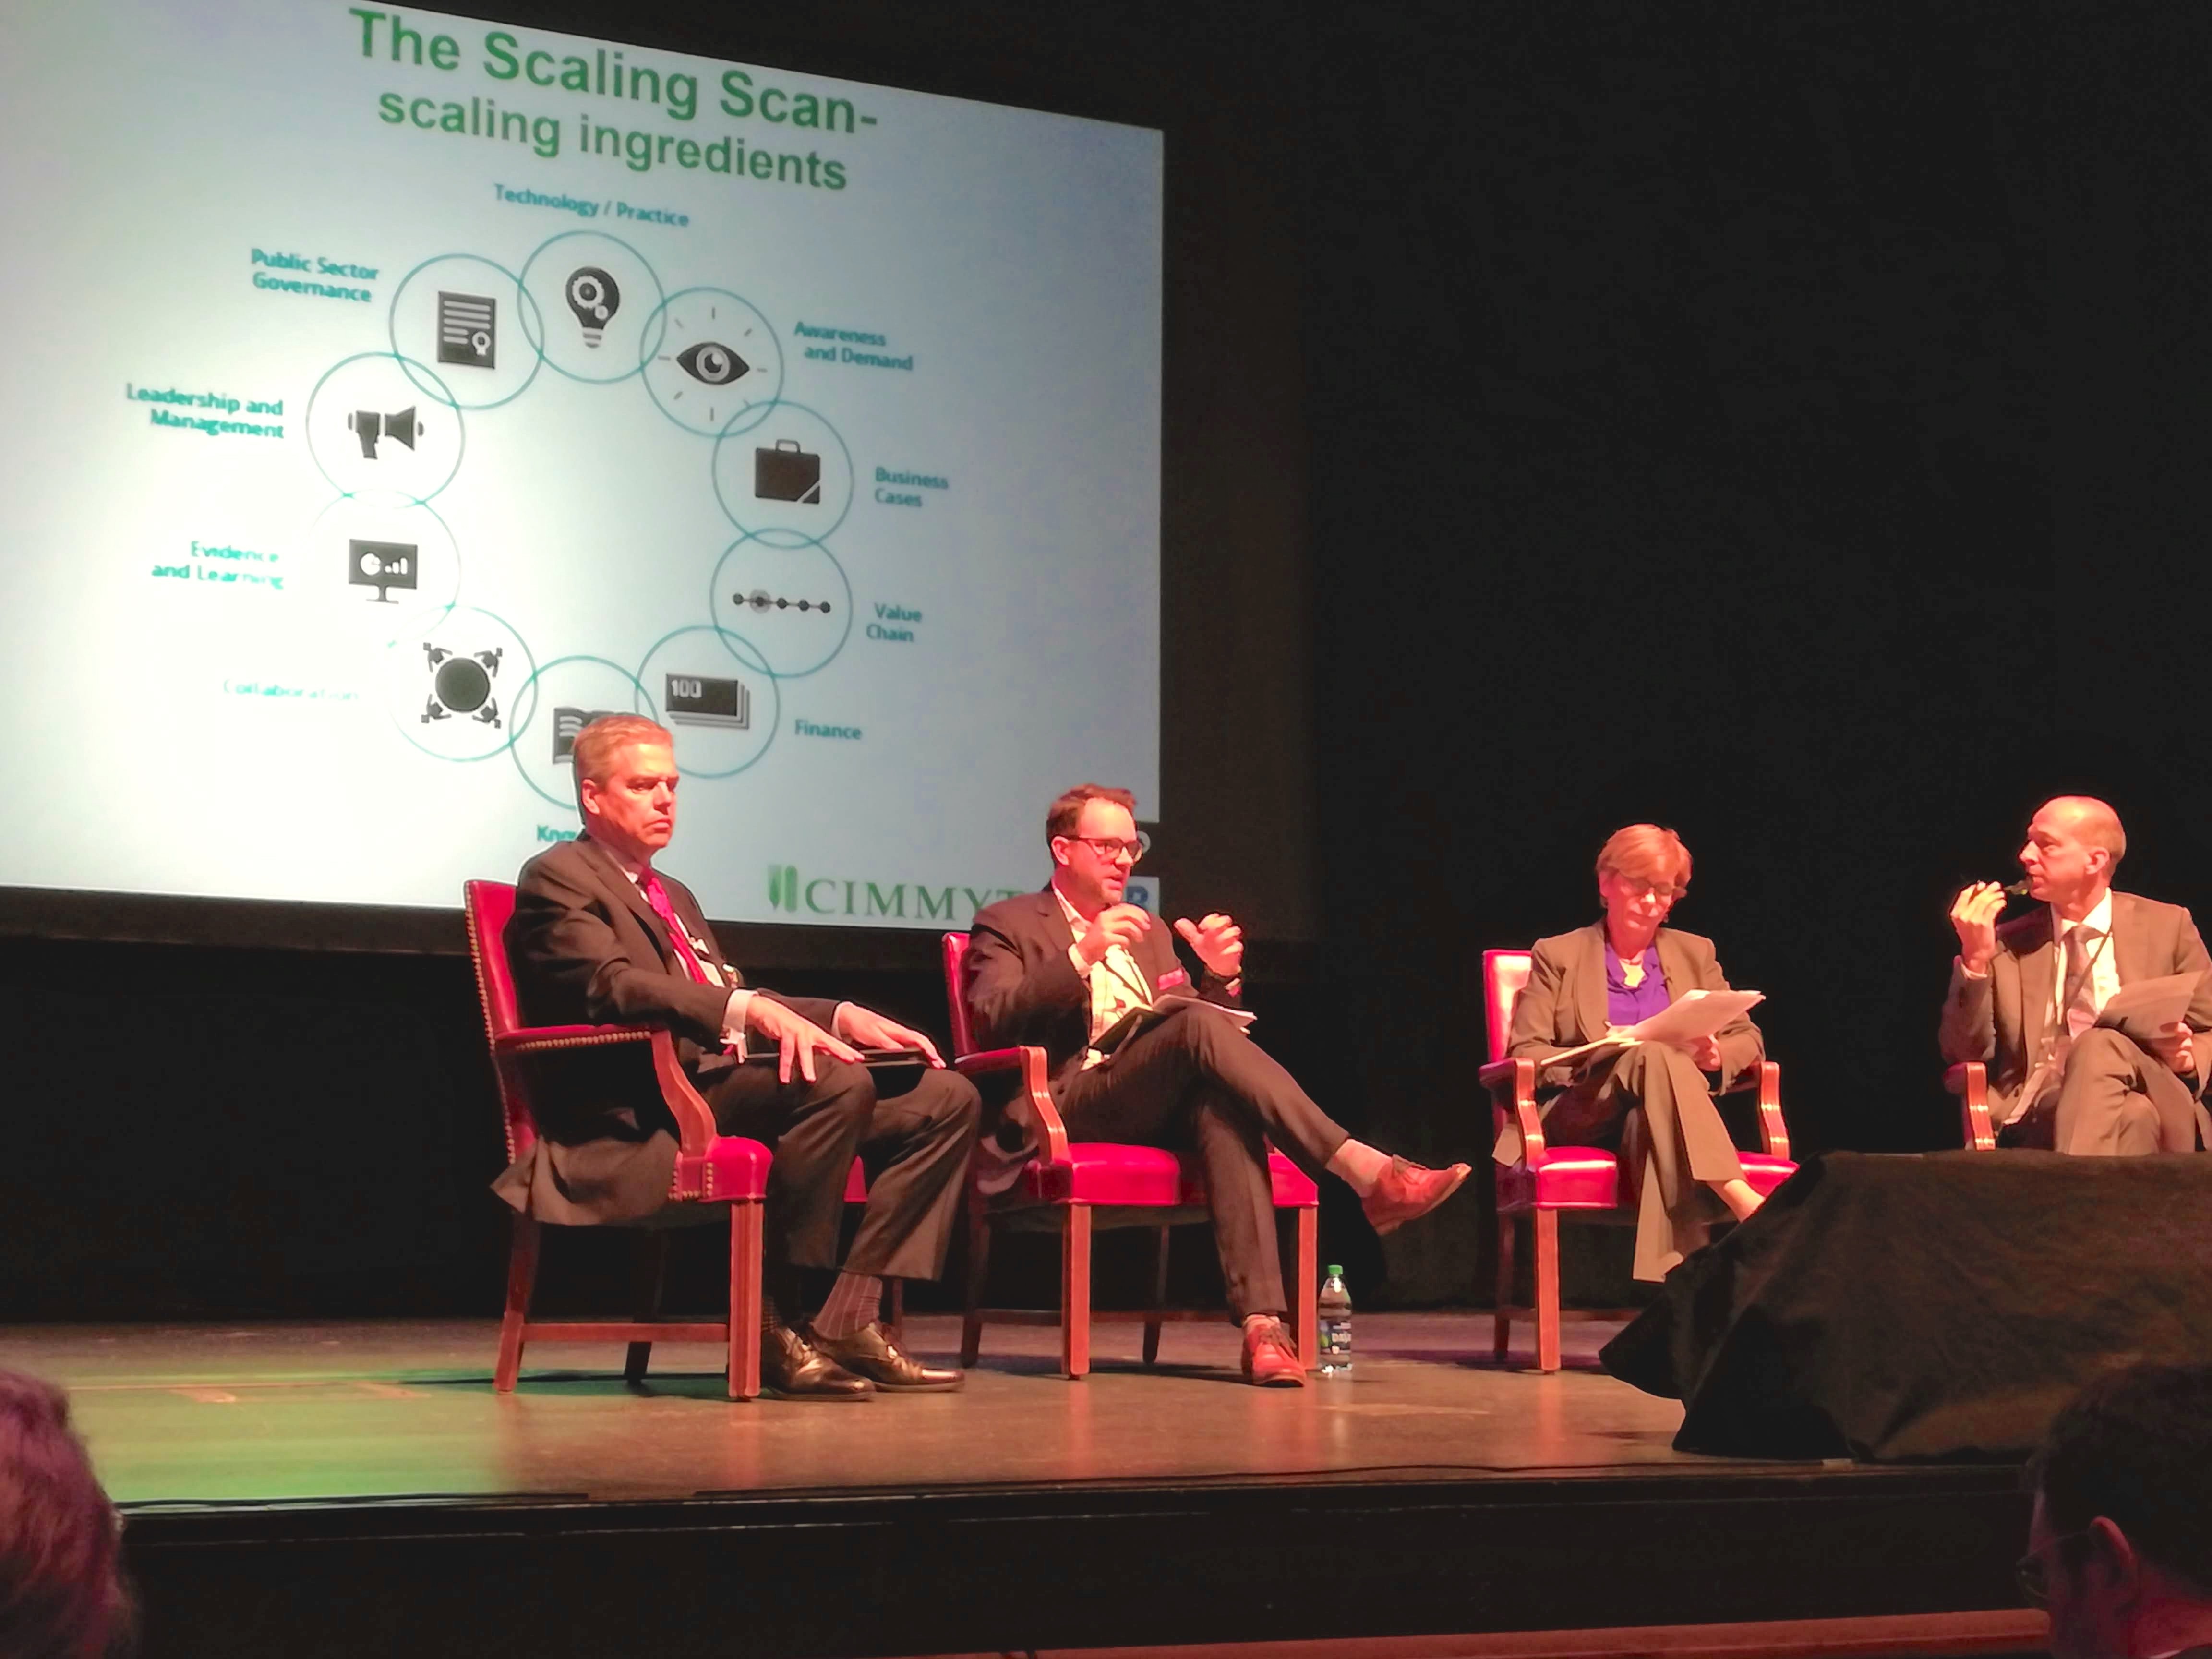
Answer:
[[[646,1374],[653,1343],[721,1343],[730,1354],[730,1398],[750,1400],[761,1391],[761,1199],[768,1192],[768,1148],[737,1135],[714,1133],[714,1113],[690,1086],[677,1062],[675,1040],[646,1026],[524,1026],[515,1002],[515,978],[507,964],[507,918],[515,909],[515,889],[495,880],[465,885],[469,918],[469,956],[476,960],[476,989],[484,1002],[484,1029],[491,1035],[491,1064],[500,1077],[500,1106],[507,1115],[507,1155],[522,1157],[538,1141],[538,1117],[531,1110],[533,1071],[557,1064],[577,1048],[608,1044],[641,1044],[650,1073],[677,1119],[677,1170],[668,1201],[677,1206],[730,1206],[730,1318],[728,1323],[675,1321],[555,1321],[531,1323],[531,1285],[538,1279],[540,1225],[515,1214],[513,1250],[507,1265],[507,1318],[500,1323],[500,1363],[493,1389],[511,1394],[522,1371],[524,1343],[628,1343],[624,1376],[633,1383]],[[854,1166],[854,1183],[860,1170]],[[847,1197],[852,1192],[847,1190]],[[865,1197],[865,1188],[863,1188]],[[648,1301],[657,1303],[657,1279],[666,1234],[653,1234],[648,1261],[653,1285]]]

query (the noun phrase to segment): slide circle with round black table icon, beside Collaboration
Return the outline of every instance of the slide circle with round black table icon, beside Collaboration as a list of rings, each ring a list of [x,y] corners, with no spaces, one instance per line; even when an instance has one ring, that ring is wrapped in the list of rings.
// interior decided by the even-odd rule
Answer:
[[[489,761],[529,726],[538,664],[476,606],[418,613],[385,644],[380,692],[400,737],[440,761]]]

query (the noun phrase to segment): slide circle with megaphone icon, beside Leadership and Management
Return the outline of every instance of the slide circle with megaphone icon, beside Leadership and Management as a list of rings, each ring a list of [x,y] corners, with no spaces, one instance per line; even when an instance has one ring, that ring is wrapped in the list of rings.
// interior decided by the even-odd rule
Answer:
[[[436,403],[425,409],[420,387]],[[307,453],[332,489],[427,502],[460,471],[460,405],[427,365],[398,352],[358,352],[307,394]]]

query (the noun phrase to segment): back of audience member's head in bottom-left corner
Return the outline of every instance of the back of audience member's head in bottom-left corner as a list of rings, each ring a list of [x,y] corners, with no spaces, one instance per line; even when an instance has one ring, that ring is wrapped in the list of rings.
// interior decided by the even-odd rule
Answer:
[[[122,1652],[131,1601],[115,1506],[51,1383],[0,1371],[0,1652]]]

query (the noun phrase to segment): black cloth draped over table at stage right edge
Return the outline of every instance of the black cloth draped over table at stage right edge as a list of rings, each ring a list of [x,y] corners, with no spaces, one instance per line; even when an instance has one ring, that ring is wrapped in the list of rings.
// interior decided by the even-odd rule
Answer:
[[[1829,1152],[1599,1358],[1679,1451],[2024,1458],[2099,1374],[2212,1363],[2212,1157]]]

